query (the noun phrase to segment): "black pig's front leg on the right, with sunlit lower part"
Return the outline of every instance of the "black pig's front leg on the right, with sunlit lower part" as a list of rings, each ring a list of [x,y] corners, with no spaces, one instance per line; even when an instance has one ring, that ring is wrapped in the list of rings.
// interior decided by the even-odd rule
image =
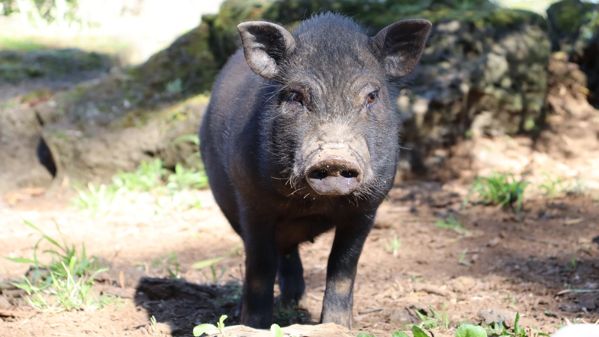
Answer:
[[[355,215],[337,224],[326,266],[326,290],[321,323],[352,327],[353,282],[364,241],[374,222],[374,213]]]

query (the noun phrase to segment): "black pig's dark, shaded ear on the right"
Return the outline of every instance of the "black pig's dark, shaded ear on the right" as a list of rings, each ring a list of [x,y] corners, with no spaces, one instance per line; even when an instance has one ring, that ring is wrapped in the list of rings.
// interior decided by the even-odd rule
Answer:
[[[431,26],[431,22],[424,19],[402,20],[386,26],[372,38],[374,50],[388,76],[403,77],[414,70]]]

